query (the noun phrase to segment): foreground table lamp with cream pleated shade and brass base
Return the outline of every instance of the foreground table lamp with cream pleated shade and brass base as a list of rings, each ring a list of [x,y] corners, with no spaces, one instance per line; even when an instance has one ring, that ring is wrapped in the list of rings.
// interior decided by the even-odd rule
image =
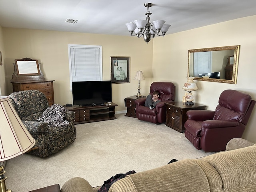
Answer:
[[[35,144],[16,110],[7,96],[0,96],[0,161],[12,159],[32,148]],[[4,165],[0,166],[0,192],[12,192],[6,189]]]

